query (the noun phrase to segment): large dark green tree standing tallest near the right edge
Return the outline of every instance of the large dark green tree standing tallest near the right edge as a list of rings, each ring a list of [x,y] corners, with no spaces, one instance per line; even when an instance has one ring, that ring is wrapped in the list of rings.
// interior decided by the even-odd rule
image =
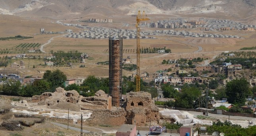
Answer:
[[[233,79],[232,81],[227,82],[226,94],[229,103],[243,106],[248,93],[250,93],[249,87],[250,83],[244,77],[241,79]]]

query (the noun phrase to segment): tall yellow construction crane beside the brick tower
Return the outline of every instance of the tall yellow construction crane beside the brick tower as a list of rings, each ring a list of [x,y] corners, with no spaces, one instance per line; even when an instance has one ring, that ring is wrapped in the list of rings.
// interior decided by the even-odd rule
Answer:
[[[137,23],[136,23],[136,28],[137,28],[137,74],[136,74],[136,92],[139,92],[141,89],[141,75],[140,75],[140,37],[141,37],[141,29],[140,29],[140,22],[141,21],[146,21],[149,20],[148,17],[145,14],[145,11],[143,11],[141,15],[141,11],[138,12],[137,15]]]

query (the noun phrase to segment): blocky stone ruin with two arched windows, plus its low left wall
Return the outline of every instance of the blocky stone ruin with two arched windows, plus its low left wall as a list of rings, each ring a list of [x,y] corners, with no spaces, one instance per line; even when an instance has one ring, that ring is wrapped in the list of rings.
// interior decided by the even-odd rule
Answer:
[[[122,108],[116,110],[94,110],[85,122],[90,125],[121,126],[133,124],[144,126],[145,124],[158,123],[160,120],[159,109],[147,92],[131,92],[126,94],[126,101]]]

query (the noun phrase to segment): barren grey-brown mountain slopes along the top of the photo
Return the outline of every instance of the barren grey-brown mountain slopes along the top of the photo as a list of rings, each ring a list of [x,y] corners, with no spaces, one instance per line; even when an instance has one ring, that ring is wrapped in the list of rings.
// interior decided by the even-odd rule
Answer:
[[[22,17],[109,17],[136,14],[227,16],[255,21],[256,0],[0,0],[0,13]]]

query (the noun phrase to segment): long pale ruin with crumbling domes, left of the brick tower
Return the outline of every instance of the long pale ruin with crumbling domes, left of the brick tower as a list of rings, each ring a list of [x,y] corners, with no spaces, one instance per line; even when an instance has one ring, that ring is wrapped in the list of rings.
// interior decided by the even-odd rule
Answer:
[[[32,102],[38,105],[46,105],[51,109],[62,110],[111,110],[111,97],[107,96],[104,91],[99,90],[95,96],[83,97],[75,90],[65,91],[63,88],[58,87],[54,93],[45,92],[41,95],[32,97]]]

